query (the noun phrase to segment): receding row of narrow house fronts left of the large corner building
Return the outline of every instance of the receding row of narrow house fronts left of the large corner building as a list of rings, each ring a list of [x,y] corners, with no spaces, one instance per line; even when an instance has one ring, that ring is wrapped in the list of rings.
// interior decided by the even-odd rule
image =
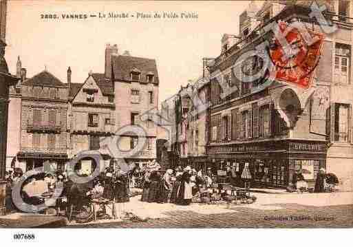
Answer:
[[[213,58],[203,58],[202,78],[209,76],[209,63],[211,61],[213,61]],[[200,78],[195,83],[189,83],[186,87],[181,87],[174,101],[176,127],[176,145],[174,145],[176,147],[174,151],[179,159],[179,162],[175,162],[175,165],[191,165],[197,170],[206,170],[206,142],[208,140],[209,122],[206,105],[209,102],[209,82]],[[162,105],[171,104],[164,103]]]

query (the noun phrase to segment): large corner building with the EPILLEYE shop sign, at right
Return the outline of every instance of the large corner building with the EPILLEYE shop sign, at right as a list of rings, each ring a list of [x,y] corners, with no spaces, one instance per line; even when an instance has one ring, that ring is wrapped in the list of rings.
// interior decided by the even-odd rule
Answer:
[[[318,1],[319,5],[323,1]],[[251,3],[254,4],[255,2]],[[210,166],[219,169],[235,164],[239,175],[248,165],[253,180],[262,186],[282,187],[292,183],[295,170],[313,185],[321,167],[338,175],[341,186],[352,186],[352,3],[325,1],[326,19],[336,25],[336,32],[325,34],[321,57],[312,72],[309,89],[268,77],[247,83],[233,69],[237,58],[270,41],[268,25],[272,21],[300,21],[314,32],[324,32],[312,15],[312,1],[261,2],[257,12],[248,8],[240,16],[239,36],[226,35],[222,52],[215,58],[211,73],[221,82],[237,86],[237,91],[221,98],[222,87],[211,80],[211,108],[207,145]],[[272,35],[273,37],[273,35]],[[241,69],[252,73],[263,66],[259,56],[242,61]],[[244,69],[244,70],[243,70]]]

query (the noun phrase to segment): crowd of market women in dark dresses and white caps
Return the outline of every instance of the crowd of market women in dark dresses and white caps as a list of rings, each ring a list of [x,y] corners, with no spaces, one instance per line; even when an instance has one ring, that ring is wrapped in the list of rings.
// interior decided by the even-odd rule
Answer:
[[[59,167],[55,173],[42,173],[25,180],[21,189],[21,197],[28,204],[41,204],[45,198],[54,193],[58,186],[63,188],[60,200],[62,208],[74,205],[76,211],[89,211],[89,204],[92,199],[102,199],[114,202],[118,207],[118,214],[125,211],[125,203],[129,197],[141,193],[142,202],[173,203],[178,205],[189,205],[193,197],[202,196],[205,193],[221,193],[220,184],[230,184],[242,188],[246,186],[244,176],[236,172],[235,166],[226,166],[225,173],[220,182],[220,176],[213,173],[211,167],[206,171],[196,171],[190,166],[176,167],[175,169],[164,170],[160,164],[153,160],[145,167],[139,165],[131,167],[129,171],[122,171],[116,163],[109,164],[97,178],[85,184],[76,184],[69,179],[67,171],[61,171]],[[87,176],[76,169],[78,175]],[[244,173],[244,172],[243,172]],[[250,173],[250,172],[249,172]],[[14,169],[6,173],[7,197],[6,204],[10,211],[16,210],[12,202],[12,188],[23,175],[21,169]],[[251,175],[250,175],[251,176]],[[328,184],[336,184],[338,180],[332,173],[325,173],[320,169],[317,173],[317,180],[314,191],[321,193],[328,191]],[[138,190],[131,190],[138,188]],[[292,186],[289,191],[306,191],[308,183],[304,180],[301,171],[295,172],[292,178]],[[223,190],[223,193],[226,191]],[[222,196],[222,195],[221,195]]]

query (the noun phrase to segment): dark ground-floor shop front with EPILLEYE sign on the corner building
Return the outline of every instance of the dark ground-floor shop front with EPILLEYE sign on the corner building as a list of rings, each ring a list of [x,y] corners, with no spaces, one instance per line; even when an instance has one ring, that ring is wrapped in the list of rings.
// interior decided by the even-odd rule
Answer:
[[[314,186],[317,172],[325,168],[325,141],[272,140],[246,144],[220,144],[208,147],[213,171],[235,167],[238,178],[248,165],[251,184],[284,188],[292,184],[295,171],[301,171],[308,186]]]

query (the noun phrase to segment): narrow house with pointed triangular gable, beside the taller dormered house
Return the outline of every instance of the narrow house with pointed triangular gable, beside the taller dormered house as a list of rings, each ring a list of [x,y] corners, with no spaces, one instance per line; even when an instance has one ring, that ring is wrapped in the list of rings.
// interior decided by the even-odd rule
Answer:
[[[71,82],[72,71],[67,69],[69,93],[69,158],[74,158],[81,151],[100,150],[107,166],[111,155],[100,149],[102,138],[114,133],[114,89],[105,74],[89,73],[84,83]],[[90,173],[95,164],[86,160],[81,162],[81,169]]]

